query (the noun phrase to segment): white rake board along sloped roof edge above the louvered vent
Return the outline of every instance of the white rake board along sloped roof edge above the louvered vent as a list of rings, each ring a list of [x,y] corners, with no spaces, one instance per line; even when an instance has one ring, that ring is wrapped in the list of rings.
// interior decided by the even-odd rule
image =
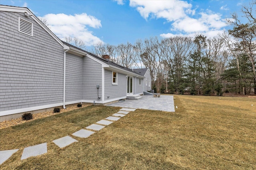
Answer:
[[[28,8],[0,5],[0,11],[19,13],[27,12],[30,15],[29,17],[36,21],[36,23],[38,23],[47,33],[49,33],[62,47],[64,46],[62,41],[54,33],[52,33],[52,31],[50,31],[50,29],[46,27]]]

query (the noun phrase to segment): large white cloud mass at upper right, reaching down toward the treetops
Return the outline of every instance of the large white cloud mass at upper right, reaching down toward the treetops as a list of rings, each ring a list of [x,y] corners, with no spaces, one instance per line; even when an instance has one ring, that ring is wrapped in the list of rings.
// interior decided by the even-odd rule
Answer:
[[[211,10],[205,10],[196,14],[196,8],[192,4],[182,0],[130,0],[130,6],[136,8],[140,15],[148,18],[164,18],[170,22],[171,33],[163,33],[161,37],[194,36],[195,33],[202,33],[209,37],[216,36],[217,33],[226,26],[221,14]],[[227,10],[225,6],[221,9]],[[176,33],[178,32],[178,33]],[[175,34],[174,34],[175,33]]]

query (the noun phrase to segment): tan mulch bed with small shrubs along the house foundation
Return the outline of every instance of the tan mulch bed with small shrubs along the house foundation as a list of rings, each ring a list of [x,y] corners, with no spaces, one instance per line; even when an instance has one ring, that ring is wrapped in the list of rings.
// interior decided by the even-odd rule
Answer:
[[[87,107],[87,106],[90,106],[90,104],[89,105],[88,104],[83,104],[82,107],[71,106],[71,107],[67,107],[66,109],[60,109],[59,113],[63,113],[63,112],[66,112],[66,111],[72,111],[72,110],[80,109],[80,108]],[[56,115],[56,114],[59,114],[59,113],[53,113],[53,111],[46,111],[46,112],[42,112],[42,113],[33,114],[33,119],[30,119],[30,120],[22,120],[22,117],[20,117],[20,118],[8,120],[8,121],[2,121],[2,122],[0,122],[0,129],[4,129],[6,127],[19,125],[19,124],[22,124],[22,123],[25,123],[25,122],[28,122],[28,121],[33,121],[35,119],[40,119],[42,117],[48,117],[48,116],[51,116],[51,115]]]

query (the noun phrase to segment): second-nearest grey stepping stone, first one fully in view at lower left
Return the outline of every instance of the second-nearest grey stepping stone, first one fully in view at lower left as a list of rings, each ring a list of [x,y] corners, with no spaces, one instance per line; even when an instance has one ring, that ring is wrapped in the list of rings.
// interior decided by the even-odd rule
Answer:
[[[42,143],[39,145],[34,145],[32,147],[26,147],[23,150],[20,160],[29,158],[31,156],[38,156],[41,154],[47,153],[47,143]]]

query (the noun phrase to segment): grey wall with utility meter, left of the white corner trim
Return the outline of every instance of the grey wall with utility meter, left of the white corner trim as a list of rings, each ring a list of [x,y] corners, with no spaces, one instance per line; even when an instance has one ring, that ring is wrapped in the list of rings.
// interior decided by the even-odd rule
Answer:
[[[97,89],[96,85],[100,88]],[[102,101],[102,65],[89,57],[83,57],[83,100]]]

